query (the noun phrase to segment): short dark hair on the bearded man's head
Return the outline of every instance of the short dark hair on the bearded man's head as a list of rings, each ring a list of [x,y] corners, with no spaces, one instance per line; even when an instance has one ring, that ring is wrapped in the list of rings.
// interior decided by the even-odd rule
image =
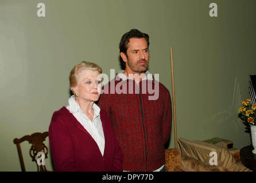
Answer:
[[[145,38],[147,43],[148,43],[148,47],[149,47],[149,35],[146,33],[142,33],[141,31],[137,30],[137,29],[131,29],[129,32],[123,34],[121,41],[119,43],[119,50],[120,53],[123,52],[126,54],[127,51],[127,45],[130,41],[130,38]]]

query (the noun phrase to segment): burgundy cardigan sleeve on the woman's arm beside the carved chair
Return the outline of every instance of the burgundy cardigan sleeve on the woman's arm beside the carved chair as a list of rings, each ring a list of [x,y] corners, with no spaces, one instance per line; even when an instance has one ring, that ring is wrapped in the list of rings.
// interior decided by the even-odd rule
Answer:
[[[73,160],[73,145],[61,114],[53,113],[49,126],[49,143],[55,171],[77,171]]]

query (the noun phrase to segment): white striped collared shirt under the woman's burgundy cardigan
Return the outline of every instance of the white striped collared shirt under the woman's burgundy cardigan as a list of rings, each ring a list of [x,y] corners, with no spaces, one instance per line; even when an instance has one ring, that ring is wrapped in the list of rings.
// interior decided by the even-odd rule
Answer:
[[[102,121],[100,121],[100,108],[96,104],[92,106],[94,109],[94,118],[91,121],[86,114],[83,113],[80,106],[75,101],[75,96],[71,96],[68,99],[68,106],[66,107],[70,113],[75,116],[76,120],[80,122],[80,124],[87,130],[88,133],[94,138],[96,144],[99,147],[100,152],[104,153],[105,147],[105,138],[102,128]]]

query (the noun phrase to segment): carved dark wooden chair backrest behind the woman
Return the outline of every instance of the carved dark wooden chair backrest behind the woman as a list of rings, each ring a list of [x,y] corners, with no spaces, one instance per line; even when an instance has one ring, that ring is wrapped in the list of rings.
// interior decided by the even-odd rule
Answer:
[[[25,164],[24,164],[24,160],[23,160],[23,156],[22,156],[22,152],[21,152],[21,142],[24,141],[28,141],[29,144],[32,144],[30,150],[29,150],[29,154],[30,157],[32,157],[32,161],[36,162],[37,165],[37,172],[46,172],[48,170],[46,170],[45,167],[45,158],[47,158],[48,156],[48,148],[47,146],[44,144],[45,138],[48,137],[48,132],[44,132],[44,133],[33,133],[30,136],[24,136],[21,138],[14,138],[13,142],[14,144],[17,145],[17,150],[18,150],[18,156],[20,159],[20,164],[21,164],[21,171],[22,172],[26,172],[25,169]],[[39,157],[41,155],[41,157]],[[36,160],[36,157],[38,157],[38,160]]]

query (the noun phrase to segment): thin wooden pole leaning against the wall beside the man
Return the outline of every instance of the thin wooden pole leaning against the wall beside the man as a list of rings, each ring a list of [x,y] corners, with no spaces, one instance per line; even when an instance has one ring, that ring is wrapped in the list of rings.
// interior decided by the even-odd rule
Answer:
[[[173,72],[173,51],[170,47],[170,69],[172,70],[172,104],[173,104],[173,121],[174,121],[174,141],[175,149],[177,149],[177,124],[176,124],[176,103],[175,103],[175,88],[174,88],[174,72]]]

